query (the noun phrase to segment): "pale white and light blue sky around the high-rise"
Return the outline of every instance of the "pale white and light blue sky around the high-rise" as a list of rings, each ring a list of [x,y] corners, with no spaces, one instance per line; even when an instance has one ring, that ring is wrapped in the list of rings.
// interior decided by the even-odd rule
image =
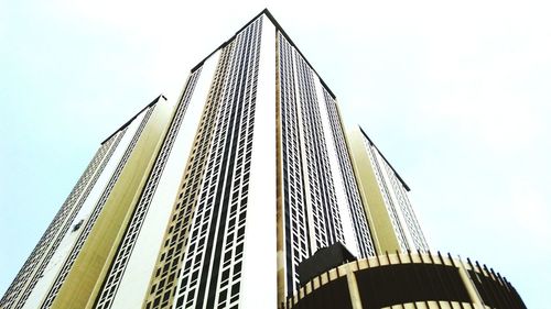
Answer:
[[[544,309],[548,1],[0,0],[0,293],[99,143],[263,8],[410,185],[431,247]]]

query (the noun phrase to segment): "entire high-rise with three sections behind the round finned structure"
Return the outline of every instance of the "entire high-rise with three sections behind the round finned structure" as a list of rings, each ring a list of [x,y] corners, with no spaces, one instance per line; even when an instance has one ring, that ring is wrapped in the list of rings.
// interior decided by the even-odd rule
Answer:
[[[426,252],[356,131],[264,10],[101,143],[0,308],[276,308],[320,249]]]

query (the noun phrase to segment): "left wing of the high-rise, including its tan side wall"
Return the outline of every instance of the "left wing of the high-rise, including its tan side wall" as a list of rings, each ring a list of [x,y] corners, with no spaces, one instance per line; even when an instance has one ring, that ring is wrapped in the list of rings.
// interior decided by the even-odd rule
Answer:
[[[127,229],[129,212],[147,189],[171,110],[164,97],[159,97],[101,143],[0,300],[0,308],[50,308],[54,300],[86,297],[85,286],[95,284],[108,265],[110,251]],[[155,231],[162,234],[164,225],[158,223]],[[148,232],[148,236],[152,234]]]

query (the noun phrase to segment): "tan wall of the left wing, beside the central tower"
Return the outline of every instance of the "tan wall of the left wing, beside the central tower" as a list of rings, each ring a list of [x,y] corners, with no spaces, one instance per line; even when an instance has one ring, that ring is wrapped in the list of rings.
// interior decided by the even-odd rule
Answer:
[[[138,202],[171,114],[160,102],[151,114],[52,308],[91,306]]]

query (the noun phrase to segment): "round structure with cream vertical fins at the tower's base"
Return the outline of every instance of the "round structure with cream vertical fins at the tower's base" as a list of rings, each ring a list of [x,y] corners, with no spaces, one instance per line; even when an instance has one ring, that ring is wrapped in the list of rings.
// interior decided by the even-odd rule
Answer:
[[[526,309],[505,277],[450,254],[386,254],[328,271],[316,264],[322,273],[303,276],[280,309]]]

